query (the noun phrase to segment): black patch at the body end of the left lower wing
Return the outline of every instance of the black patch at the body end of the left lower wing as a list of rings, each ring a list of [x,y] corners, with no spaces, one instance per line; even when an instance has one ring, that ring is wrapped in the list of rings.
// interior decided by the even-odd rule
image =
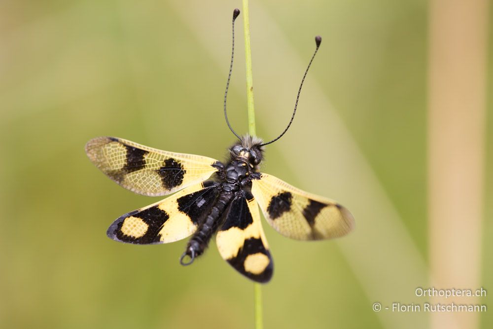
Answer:
[[[178,198],[178,210],[187,215],[194,224],[198,224],[202,218],[208,215],[208,211],[213,205],[217,195],[217,183],[205,182],[203,186],[209,185],[200,191],[183,195]]]

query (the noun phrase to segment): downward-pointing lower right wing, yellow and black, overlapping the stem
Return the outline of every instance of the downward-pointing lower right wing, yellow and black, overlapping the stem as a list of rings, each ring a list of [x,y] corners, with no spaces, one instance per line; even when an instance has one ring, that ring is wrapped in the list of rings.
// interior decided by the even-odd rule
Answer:
[[[274,263],[253,196],[240,191],[226,209],[223,220],[216,235],[219,254],[247,278],[268,282]]]

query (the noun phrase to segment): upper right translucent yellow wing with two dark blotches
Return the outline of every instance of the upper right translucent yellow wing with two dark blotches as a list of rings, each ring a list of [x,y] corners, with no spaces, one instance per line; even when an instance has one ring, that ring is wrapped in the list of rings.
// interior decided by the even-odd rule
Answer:
[[[279,233],[296,240],[337,238],[354,227],[352,214],[335,202],[261,174],[251,189],[265,218]]]

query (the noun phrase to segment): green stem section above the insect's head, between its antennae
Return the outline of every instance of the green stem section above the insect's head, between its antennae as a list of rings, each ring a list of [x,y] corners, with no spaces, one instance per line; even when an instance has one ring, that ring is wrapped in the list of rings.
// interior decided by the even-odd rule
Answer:
[[[248,19],[248,0],[243,0],[243,31],[245,34],[246,105],[248,110],[248,134],[250,134],[250,136],[255,136],[255,110],[253,108],[253,77],[251,73],[250,22]]]

